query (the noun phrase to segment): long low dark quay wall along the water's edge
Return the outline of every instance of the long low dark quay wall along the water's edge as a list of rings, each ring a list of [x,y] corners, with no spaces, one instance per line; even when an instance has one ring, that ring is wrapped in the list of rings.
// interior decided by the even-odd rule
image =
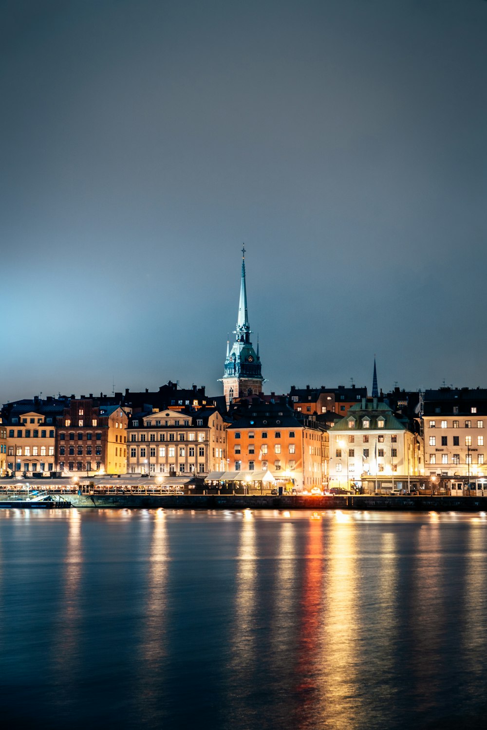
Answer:
[[[450,496],[258,496],[229,494],[70,494],[73,507],[177,510],[390,510],[394,512],[487,512],[487,497]]]

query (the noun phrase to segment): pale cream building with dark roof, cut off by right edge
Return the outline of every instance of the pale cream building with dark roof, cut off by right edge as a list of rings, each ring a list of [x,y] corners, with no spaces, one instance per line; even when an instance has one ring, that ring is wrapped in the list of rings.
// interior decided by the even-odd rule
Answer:
[[[426,475],[452,495],[487,490],[487,390],[440,388],[423,396]]]

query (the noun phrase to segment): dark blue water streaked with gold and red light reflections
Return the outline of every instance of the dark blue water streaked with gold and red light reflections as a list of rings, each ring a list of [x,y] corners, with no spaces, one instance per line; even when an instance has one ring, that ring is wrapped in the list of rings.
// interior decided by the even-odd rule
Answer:
[[[4,727],[458,729],[487,518],[0,510]]]

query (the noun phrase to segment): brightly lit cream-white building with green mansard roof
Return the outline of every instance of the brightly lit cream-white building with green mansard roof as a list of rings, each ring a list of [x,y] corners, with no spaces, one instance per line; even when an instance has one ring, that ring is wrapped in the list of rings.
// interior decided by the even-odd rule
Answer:
[[[329,439],[330,487],[407,488],[423,472],[421,437],[377,398],[351,406],[331,426]]]

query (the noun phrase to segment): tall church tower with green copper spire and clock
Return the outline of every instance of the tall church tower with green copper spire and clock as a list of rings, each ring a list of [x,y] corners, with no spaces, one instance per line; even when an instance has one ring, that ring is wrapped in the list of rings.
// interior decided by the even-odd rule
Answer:
[[[261,375],[261,359],[258,356],[258,345],[256,352],[250,342],[251,333],[247,313],[245,247],[243,247],[239,315],[234,330],[235,342],[231,350],[230,343],[226,343],[225,374],[221,378],[227,407],[237,398],[248,398],[262,392],[264,378]]]

